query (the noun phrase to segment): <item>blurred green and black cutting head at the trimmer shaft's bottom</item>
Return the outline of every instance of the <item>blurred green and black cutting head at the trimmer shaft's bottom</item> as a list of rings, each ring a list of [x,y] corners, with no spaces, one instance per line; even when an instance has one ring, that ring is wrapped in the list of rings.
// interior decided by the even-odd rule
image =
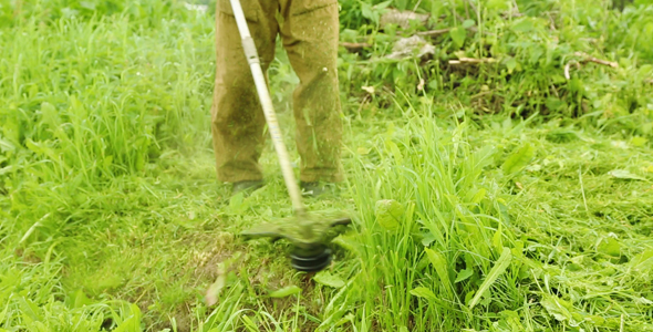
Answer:
[[[292,218],[282,225],[265,224],[241,236],[246,239],[268,237],[272,241],[287,239],[293,245],[290,253],[291,266],[298,271],[317,272],[331,263],[331,249],[326,247],[330,230],[339,225],[351,224],[351,218],[340,218],[328,222]]]

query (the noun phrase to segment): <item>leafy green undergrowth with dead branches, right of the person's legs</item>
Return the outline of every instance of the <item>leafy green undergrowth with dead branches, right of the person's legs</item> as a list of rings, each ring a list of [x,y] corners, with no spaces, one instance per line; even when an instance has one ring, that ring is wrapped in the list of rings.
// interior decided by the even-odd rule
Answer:
[[[343,39],[364,41],[372,48],[360,58],[343,56],[341,76],[346,79],[343,90],[348,94],[369,97],[361,86],[372,85],[377,92],[394,94],[392,98],[403,107],[424,98],[457,98],[473,105],[477,114],[580,117],[594,125],[619,123],[620,128],[640,135],[651,133],[653,33],[645,32],[653,29],[653,6],[647,1],[623,12],[611,9],[609,1],[600,6],[594,1],[522,1],[517,2],[518,9],[510,1],[474,7],[469,1],[433,1],[426,11],[432,13],[429,29],[452,30],[432,40],[436,45],[432,60],[400,62],[383,58],[392,43],[427,29],[414,27],[398,35],[393,27],[376,32],[375,23],[387,3],[367,10],[362,8],[367,4],[353,3],[361,14],[345,20]],[[353,21],[362,23],[352,29],[348,24]],[[460,58],[494,62],[452,65],[450,60]],[[603,64],[588,62],[590,58]],[[406,94],[413,97],[405,100]],[[388,98],[382,93],[374,97]]]

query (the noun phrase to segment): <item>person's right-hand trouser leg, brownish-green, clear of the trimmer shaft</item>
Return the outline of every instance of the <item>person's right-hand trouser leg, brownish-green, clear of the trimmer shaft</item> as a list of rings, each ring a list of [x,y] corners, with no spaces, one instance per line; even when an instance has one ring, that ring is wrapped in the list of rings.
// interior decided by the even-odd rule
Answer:
[[[281,1],[283,46],[300,79],[293,95],[302,183],[342,180],[338,2]]]

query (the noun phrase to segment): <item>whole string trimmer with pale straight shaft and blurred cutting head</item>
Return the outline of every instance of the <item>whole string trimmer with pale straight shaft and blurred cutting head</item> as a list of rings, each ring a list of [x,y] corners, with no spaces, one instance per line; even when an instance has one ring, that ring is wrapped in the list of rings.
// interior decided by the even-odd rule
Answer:
[[[331,262],[331,250],[325,245],[328,230],[336,225],[346,225],[351,222],[350,218],[341,218],[328,222],[320,222],[318,217],[310,216],[301,199],[299,186],[294,179],[292,166],[290,164],[290,156],[283,144],[277,115],[272,106],[272,98],[268,91],[268,85],[263,71],[261,69],[260,60],[256,49],[256,44],[239,0],[230,0],[231,9],[236,18],[236,24],[242,39],[242,49],[245,56],[251,69],[251,74],[256,84],[256,89],[263,108],[268,129],[277,151],[277,157],[283,174],[283,180],[292,201],[294,216],[292,220],[287,220],[287,225],[263,225],[258,228],[242,232],[246,239],[269,237],[273,240],[287,239],[293,245],[291,253],[292,267],[300,271],[319,271],[324,269]]]

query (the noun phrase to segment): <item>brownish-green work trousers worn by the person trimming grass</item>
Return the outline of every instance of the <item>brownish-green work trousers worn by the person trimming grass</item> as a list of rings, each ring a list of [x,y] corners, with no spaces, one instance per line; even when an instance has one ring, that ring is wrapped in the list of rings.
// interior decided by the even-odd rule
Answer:
[[[300,179],[342,180],[336,0],[241,0],[241,4],[263,72],[274,59],[279,35],[300,80],[292,100]],[[258,180],[269,134],[229,0],[217,2],[216,49],[211,134],[218,179]]]

